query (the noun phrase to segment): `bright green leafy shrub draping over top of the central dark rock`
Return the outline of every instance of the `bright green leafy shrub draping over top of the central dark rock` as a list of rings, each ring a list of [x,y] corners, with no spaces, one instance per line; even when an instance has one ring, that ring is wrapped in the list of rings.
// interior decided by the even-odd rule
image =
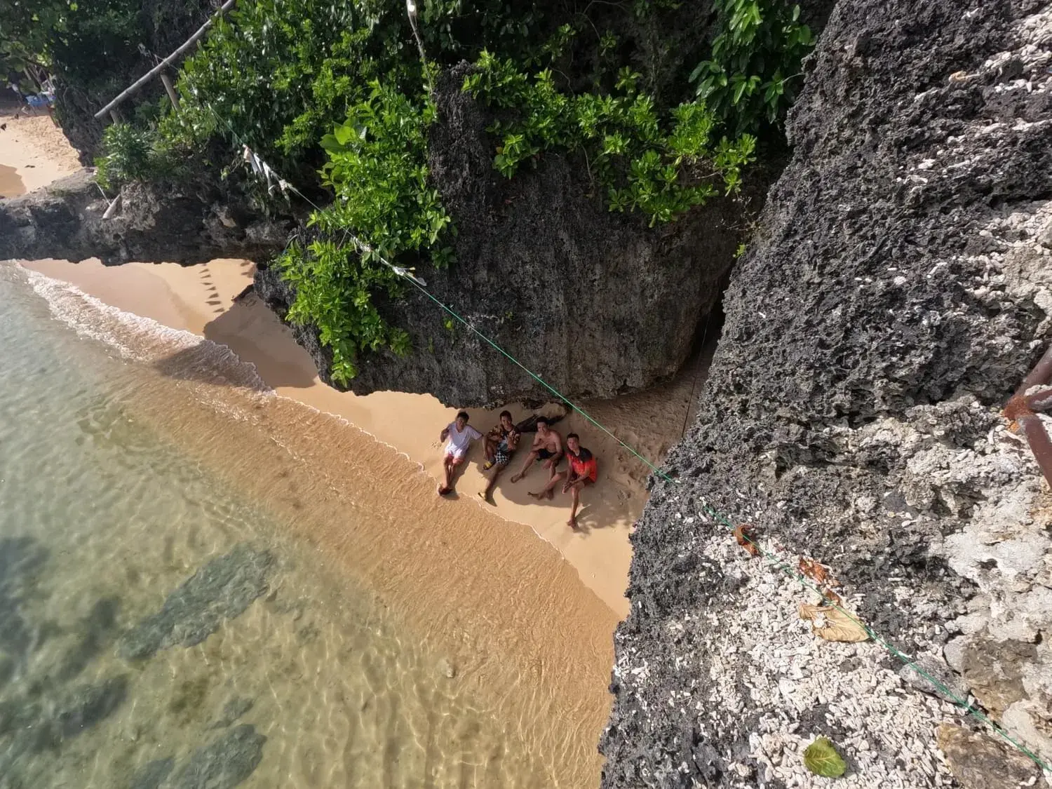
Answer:
[[[464,89],[502,112],[488,130],[500,139],[493,166],[508,178],[546,150],[582,151],[610,210],[641,210],[670,222],[720,190],[735,189],[755,138],[714,141],[716,118],[699,101],[662,114],[622,68],[614,93],[570,95],[551,70],[532,77],[510,59],[483,52]]]

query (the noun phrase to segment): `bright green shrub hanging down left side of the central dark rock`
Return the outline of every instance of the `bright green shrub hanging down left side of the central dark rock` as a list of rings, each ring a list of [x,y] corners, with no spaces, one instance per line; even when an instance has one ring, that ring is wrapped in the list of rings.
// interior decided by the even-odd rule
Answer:
[[[322,173],[336,199],[310,223],[325,240],[305,249],[294,245],[280,259],[297,290],[288,319],[318,327],[341,384],[357,375],[363,351],[408,351],[408,335],[373,304],[378,292],[396,297],[406,286],[384,261],[409,266],[428,252],[437,265],[452,259],[445,243],[451,220],[427,182],[425,130],[434,105],[429,97],[412,101],[377,81],[369,88],[346,122],[322,138],[328,154]]]

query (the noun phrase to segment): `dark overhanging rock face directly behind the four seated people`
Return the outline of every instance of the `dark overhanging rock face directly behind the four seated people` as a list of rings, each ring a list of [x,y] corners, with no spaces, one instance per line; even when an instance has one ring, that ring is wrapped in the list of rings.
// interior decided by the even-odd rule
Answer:
[[[510,181],[493,169],[490,118],[461,92],[467,67],[440,78],[429,140],[430,175],[457,226],[457,262],[418,275],[568,397],[613,397],[670,377],[719,301],[774,165],[755,168],[740,195],[651,228],[609,211],[583,160],[549,154]],[[292,296],[275,271],[261,272],[257,289],[284,315]],[[551,398],[419,291],[381,311],[410,332],[413,352],[363,357],[353,391],[429,392],[464,406]],[[316,332],[297,333],[328,381]]]

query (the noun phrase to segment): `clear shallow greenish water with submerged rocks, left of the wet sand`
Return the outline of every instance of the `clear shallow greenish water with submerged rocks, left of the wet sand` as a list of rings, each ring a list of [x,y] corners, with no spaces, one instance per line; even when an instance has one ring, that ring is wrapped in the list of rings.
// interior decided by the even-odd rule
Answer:
[[[551,785],[382,601],[136,416],[134,322],[78,336],[36,284],[0,264],[0,789]]]

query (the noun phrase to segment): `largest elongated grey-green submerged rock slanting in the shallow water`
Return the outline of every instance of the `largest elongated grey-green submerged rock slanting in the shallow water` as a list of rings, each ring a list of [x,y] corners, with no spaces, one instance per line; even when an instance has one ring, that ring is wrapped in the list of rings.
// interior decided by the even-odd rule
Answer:
[[[211,560],[168,595],[160,611],[140,622],[120,640],[124,660],[149,658],[176,644],[200,644],[223,620],[240,615],[266,592],[272,558],[239,545]]]

